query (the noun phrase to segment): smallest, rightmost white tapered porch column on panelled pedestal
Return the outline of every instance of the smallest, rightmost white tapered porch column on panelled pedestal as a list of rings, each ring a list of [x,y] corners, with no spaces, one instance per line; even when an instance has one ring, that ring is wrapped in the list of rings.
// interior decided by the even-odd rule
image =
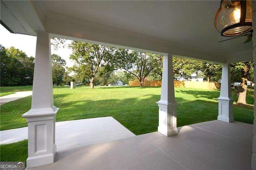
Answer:
[[[223,64],[221,74],[221,86],[219,101],[218,120],[233,122],[233,101],[231,96],[230,64]]]

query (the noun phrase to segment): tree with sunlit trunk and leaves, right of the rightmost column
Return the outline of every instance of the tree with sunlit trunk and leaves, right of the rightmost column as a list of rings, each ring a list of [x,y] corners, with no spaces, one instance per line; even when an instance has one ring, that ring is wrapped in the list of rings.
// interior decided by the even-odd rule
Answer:
[[[237,86],[238,100],[237,105],[246,104],[247,81],[250,80],[250,69],[253,68],[253,62],[238,62],[231,64],[231,76],[233,80],[240,79],[240,86]],[[234,79],[235,78],[235,79]]]

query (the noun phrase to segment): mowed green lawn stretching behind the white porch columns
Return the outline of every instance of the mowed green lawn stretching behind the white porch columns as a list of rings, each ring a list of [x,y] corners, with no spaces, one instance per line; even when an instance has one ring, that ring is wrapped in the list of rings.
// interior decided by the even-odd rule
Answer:
[[[1,88],[2,90],[2,88]],[[160,87],[54,87],[54,105],[60,110],[56,121],[77,120],[112,116],[134,134],[145,134],[157,131],[158,105]],[[247,102],[253,104],[253,94],[248,93]],[[200,90],[192,88],[175,88],[177,108],[177,124],[184,126],[199,122],[216,120],[218,116],[219,90]],[[236,98],[234,96],[234,98]],[[0,130],[27,126],[21,117],[31,106],[31,96],[0,107]],[[234,120],[253,123],[253,108],[234,106]],[[1,145],[1,161],[25,161],[20,157],[24,154],[13,155],[12,150],[20,145],[22,152],[27,153],[27,140],[15,144]],[[26,151],[26,152],[25,152]],[[26,156],[25,156],[26,157]]]

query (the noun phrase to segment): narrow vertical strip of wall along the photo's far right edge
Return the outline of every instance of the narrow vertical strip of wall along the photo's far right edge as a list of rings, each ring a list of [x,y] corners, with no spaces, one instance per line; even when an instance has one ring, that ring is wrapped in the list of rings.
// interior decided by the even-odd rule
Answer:
[[[256,1],[252,0],[252,29],[253,34],[253,63],[256,66]],[[254,71],[254,82],[256,82],[256,69]],[[255,85],[254,85],[255,87]],[[254,106],[256,106],[256,90],[254,90]],[[254,107],[253,140],[252,140],[252,170],[256,169],[256,107]]]

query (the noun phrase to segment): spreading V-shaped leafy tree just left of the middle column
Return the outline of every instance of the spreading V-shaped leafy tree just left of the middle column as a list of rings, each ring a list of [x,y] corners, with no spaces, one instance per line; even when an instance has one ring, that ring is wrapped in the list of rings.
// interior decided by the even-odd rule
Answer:
[[[115,60],[118,68],[122,68],[134,75],[140,81],[140,87],[143,86],[145,78],[160,66],[161,55],[146,52],[138,52],[118,48],[115,51]]]

